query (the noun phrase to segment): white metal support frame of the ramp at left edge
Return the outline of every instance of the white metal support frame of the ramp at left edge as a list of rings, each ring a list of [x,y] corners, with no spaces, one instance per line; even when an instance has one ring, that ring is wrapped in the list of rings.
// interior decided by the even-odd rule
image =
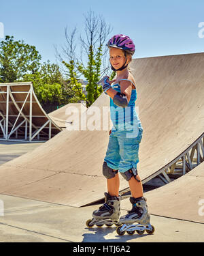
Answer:
[[[29,91],[23,90],[23,91],[12,91],[11,87],[15,86],[15,85],[30,85]],[[29,142],[33,142],[35,140],[35,142],[37,141],[46,141],[48,139],[50,139],[52,137],[52,120],[46,115],[46,113],[44,112],[44,110],[41,108],[35,93],[33,91],[33,85],[32,83],[14,83],[14,84],[0,84],[0,89],[1,87],[6,87],[6,91],[1,91],[0,90],[0,94],[6,94],[6,101],[2,101],[1,104],[5,104],[6,106],[6,111],[5,111],[5,115],[3,115],[2,111],[0,111],[0,130],[3,133],[3,137],[0,137],[0,140],[3,141],[29,141]],[[13,94],[26,94],[24,100],[20,100],[20,101],[16,101],[14,98]],[[4,97],[5,98],[5,97]],[[47,119],[45,120],[44,124],[42,124],[40,127],[39,126],[35,126],[35,124],[33,124],[33,98],[35,99],[34,102],[37,102],[39,105],[39,108],[41,109],[42,112],[45,113],[45,115],[37,115],[36,117],[47,117]],[[19,107],[18,106],[18,102],[22,103],[22,106]],[[13,104],[17,111],[18,114],[17,115],[10,115],[10,104]],[[23,109],[25,104],[29,103],[29,115],[24,115],[23,113]],[[12,114],[12,113],[11,113]],[[11,122],[10,121],[10,117],[12,117],[15,121]],[[23,120],[21,121],[23,118]],[[34,116],[35,117],[35,116]],[[19,123],[20,120],[20,124]],[[54,124],[55,125],[55,124]],[[48,129],[48,132],[44,131],[44,128]],[[56,128],[58,128],[56,126]],[[59,128],[59,130],[61,130]],[[18,134],[21,134],[21,137],[19,137]],[[24,139],[22,138],[22,134],[24,134]],[[15,139],[14,139],[15,137]],[[44,139],[46,138],[46,140]],[[40,140],[41,139],[41,140]]]

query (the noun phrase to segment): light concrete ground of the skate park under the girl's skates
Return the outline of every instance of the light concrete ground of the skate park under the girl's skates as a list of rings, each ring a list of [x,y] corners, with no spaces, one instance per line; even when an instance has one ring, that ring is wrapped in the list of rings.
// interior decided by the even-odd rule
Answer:
[[[41,143],[0,142],[1,163],[31,152]],[[86,227],[99,205],[73,207],[0,194],[1,242],[204,242],[203,223],[151,214],[153,235],[118,236],[116,227]],[[130,210],[121,202],[122,214]],[[129,205],[129,208],[127,208]],[[184,209],[185,211],[185,209]]]

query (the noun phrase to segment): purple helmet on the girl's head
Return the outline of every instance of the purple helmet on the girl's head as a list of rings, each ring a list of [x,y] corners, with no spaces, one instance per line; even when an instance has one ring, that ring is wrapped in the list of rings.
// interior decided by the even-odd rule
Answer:
[[[108,47],[119,48],[133,55],[135,53],[135,44],[127,35],[114,35],[106,44]]]

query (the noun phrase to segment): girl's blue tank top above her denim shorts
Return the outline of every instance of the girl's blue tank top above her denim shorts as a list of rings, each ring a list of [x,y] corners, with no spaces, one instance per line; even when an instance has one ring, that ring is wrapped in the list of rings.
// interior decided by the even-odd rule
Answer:
[[[122,79],[120,81],[130,81],[130,80]],[[132,81],[130,82],[133,83]],[[121,92],[119,83],[112,85],[112,88],[118,92]],[[125,108],[122,108],[121,106],[117,106],[116,104],[114,104],[114,101],[112,100],[112,98],[110,98],[110,117],[116,129],[118,129],[118,127],[124,127],[126,125],[141,126],[141,122],[135,110],[136,99],[137,99],[136,87],[135,89],[132,89],[131,99],[129,101],[128,106],[126,106]]]

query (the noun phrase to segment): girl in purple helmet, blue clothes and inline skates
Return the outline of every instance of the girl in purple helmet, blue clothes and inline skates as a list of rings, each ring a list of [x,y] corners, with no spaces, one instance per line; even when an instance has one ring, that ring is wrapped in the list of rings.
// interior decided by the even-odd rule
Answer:
[[[128,65],[135,52],[133,40],[126,35],[114,35],[108,42],[109,61],[116,72],[113,81],[108,76],[101,79],[103,91],[110,97],[110,113],[114,124],[109,133],[109,144],[103,162],[103,175],[107,179],[105,203],[92,214],[92,221],[103,223],[150,223],[150,215],[143,188],[137,174],[139,143],[143,128],[135,111],[137,98],[135,80]],[[111,85],[113,83],[113,85]],[[120,180],[118,171],[129,182],[132,210],[120,217]],[[120,220],[119,220],[120,218]],[[95,222],[96,223],[96,222]],[[100,222],[101,223],[101,222]],[[88,223],[90,227],[94,222]]]

